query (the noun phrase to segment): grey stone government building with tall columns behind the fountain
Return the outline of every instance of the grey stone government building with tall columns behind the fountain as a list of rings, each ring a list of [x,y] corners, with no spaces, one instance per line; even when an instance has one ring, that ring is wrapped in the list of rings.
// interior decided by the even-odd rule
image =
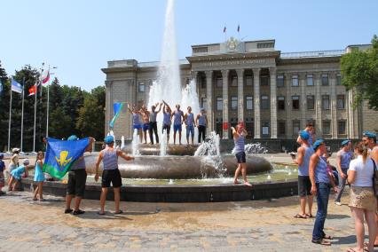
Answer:
[[[363,130],[378,128],[378,112],[366,102],[352,107],[353,91],[342,85],[340,59],[351,50],[281,52],[275,40],[238,41],[192,46],[192,55],[180,60],[181,83],[196,82],[200,106],[207,111],[209,130],[230,138],[230,125],[244,122],[249,138],[294,139],[307,122],[318,138],[361,138]],[[112,60],[106,74],[106,132],[114,102],[148,102],[149,87],[159,62]],[[172,105],[173,106],[173,105]],[[184,110],[186,108],[183,108]],[[130,113],[124,111],[114,135],[132,138]]]

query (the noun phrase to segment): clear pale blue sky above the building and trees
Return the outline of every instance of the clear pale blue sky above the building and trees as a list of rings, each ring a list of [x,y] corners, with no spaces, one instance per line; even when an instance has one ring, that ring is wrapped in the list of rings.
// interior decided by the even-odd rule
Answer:
[[[4,0],[0,60],[8,75],[25,65],[54,69],[61,84],[86,91],[104,85],[108,60],[161,57],[166,0]],[[275,49],[322,51],[370,43],[378,1],[177,0],[179,59],[191,45],[275,39]],[[240,35],[237,27],[240,25]]]

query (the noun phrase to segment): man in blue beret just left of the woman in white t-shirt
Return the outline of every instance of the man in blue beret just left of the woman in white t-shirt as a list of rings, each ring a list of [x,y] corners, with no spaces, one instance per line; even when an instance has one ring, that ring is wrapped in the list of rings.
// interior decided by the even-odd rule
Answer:
[[[342,205],[341,199],[345,184],[347,181],[347,173],[349,169],[349,164],[353,158],[353,152],[351,151],[351,141],[345,139],[342,142],[342,148],[336,154],[336,168],[339,175],[339,190],[335,195],[335,204],[338,206]]]

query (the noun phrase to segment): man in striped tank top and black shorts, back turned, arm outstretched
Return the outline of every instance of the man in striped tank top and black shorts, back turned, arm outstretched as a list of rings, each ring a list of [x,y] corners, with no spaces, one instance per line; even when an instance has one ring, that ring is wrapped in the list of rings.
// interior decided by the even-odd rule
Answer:
[[[120,191],[122,186],[122,177],[120,170],[118,169],[118,157],[122,157],[122,159],[124,159],[125,161],[134,160],[134,157],[123,154],[121,150],[116,150],[114,148],[113,136],[107,136],[104,139],[104,142],[106,143],[106,148],[98,154],[98,160],[96,162],[96,182],[98,181],[99,163],[102,161],[104,165],[104,170],[102,171],[101,176],[101,196],[99,199],[101,209],[99,210],[98,215],[105,215],[106,194],[107,190],[110,187],[110,183],[112,183],[114,190],[114,214],[122,214],[122,210],[120,209]]]

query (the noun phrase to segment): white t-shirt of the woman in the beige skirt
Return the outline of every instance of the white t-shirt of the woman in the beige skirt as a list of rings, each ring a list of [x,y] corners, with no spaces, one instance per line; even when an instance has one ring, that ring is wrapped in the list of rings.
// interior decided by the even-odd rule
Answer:
[[[349,169],[356,171],[356,179],[351,185],[373,186],[374,164],[370,157],[366,157],[364,164],[362,155],[358,155],[357,159],[350,161]]]

